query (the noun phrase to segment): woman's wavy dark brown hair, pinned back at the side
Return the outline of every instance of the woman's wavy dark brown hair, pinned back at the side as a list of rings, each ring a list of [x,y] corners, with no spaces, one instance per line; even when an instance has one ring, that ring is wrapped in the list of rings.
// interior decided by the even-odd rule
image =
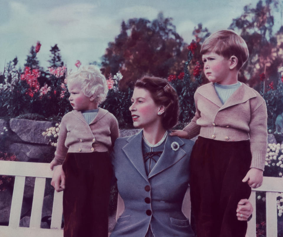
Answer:
[[[136,81],[135,87],[146,89],[150,92],[155,104],[165,107],[162,124],[165,129],[173,128],[179,117],[179,100],[175,89],[169,82],[160,77],[143,76]]]

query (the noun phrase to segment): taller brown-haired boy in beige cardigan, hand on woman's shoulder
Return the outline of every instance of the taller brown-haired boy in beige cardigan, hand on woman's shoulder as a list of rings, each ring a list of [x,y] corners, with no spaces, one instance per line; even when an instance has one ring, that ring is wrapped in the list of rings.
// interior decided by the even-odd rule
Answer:
[[[201,46],[210,83],[195,92],[196,113],[171,135],[199,135],[191,154],[190,195],[198,237],[245,236],[235,215],[238,201],[261,186],[267,147],[267,112],[257,91],[238,81],[249,51],[232,30],[210,35]],[[246,220],[246,219],[245,219]]]

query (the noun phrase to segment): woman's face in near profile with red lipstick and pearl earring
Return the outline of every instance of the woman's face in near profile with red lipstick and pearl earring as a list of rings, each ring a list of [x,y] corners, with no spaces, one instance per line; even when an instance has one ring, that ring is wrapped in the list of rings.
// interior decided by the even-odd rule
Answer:
[[[135,87],[131,98],[130,111],[136,128],[155,126],[161,120],[158,112],[163,112],[163,106],[155,104],[147,89]]]

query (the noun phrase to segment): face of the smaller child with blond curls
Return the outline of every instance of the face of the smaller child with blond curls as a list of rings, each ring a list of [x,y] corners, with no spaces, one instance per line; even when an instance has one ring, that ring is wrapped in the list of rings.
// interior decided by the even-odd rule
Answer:
[[[91,101],[91,97],[87,97],[81,88],[79,82],[68,83],[68,91],[70,92],[69,101],[75,110],[97,109],[97,104]]]

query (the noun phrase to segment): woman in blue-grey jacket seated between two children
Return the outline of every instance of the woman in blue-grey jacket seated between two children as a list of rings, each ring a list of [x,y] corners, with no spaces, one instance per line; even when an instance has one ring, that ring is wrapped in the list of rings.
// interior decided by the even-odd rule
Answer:
[[[118,138],[113,148],[112,164],[125,210],[111,236],[194,236],[181,211],[193,142],[168,136],[178,121],[177,93],[166,80],[145,76],[136,82],[131,101],[134,127],[143,130]],[[56,190],[62,178],[62,169],[56,169]],[[241,217],[237,214],[246,220],[252,207],[238,207],[248,209],[241,210]]]

